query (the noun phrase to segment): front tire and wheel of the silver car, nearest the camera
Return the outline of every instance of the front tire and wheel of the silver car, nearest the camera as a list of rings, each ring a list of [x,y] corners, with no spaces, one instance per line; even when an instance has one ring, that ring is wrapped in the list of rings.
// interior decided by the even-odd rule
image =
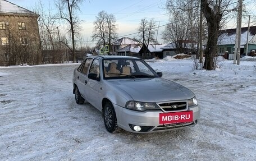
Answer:
[[[108,132],[117,133],[120,128],[117,126],[116,112],[113,105],[107,102],[103,108],[104,125]]]

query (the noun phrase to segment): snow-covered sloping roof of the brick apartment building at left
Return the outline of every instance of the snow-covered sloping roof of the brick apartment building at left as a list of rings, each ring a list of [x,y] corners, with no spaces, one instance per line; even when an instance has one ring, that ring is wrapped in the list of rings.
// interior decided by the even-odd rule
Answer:
[[[34,12],[31,12],[23,7],[17,6],[11,2],[6,0],[0,0],[0,13],[8,13],[8,14],[29,14],[29,15],[37,15]]]

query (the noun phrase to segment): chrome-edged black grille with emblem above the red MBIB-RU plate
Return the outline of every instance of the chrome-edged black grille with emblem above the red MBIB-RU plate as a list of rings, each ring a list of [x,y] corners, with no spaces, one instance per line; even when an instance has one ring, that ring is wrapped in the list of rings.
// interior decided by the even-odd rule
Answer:
[[[182,111],[186,109],[186,102],[167,102],[158,105],[163,111]]]

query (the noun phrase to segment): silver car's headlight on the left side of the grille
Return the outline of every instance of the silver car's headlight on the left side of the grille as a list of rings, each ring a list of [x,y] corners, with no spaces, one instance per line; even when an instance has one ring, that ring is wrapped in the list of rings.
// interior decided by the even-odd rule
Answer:
[[[133,100],[127,102],[125,108],[136,111],[145,111],[147,109],[159,109],[156,103],[137,102]]]

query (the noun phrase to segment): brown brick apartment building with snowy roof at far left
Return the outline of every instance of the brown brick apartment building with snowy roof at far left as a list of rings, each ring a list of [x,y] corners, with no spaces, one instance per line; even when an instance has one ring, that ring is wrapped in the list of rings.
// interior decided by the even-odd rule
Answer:
[[[0,0],[0,66],[42,62],[38,18],[34,12]]]

